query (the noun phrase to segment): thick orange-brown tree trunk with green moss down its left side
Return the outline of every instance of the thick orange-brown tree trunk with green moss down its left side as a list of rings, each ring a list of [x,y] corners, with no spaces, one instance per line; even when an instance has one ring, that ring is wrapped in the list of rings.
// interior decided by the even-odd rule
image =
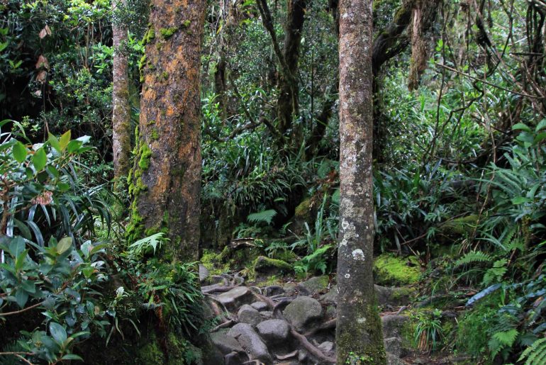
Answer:
[[[199,74],[206,1],[154,0],[145,35],[138,144],[129,193],[129,240],[166,232],[165,261],[199,246]]]

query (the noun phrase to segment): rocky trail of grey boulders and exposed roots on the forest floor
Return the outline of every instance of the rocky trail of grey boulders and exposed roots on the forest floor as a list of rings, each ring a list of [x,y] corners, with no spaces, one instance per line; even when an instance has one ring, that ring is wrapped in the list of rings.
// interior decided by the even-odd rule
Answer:
[[[238,274],[210,276],[200,267],[202,291],[219,318],[211,329],[225,365],[335,364],[337,288],[328,276],[284,285],[252,286]],[[376,286],[389,364],[452,364],[411,356],[403,341],[403,315],[411,290]]]

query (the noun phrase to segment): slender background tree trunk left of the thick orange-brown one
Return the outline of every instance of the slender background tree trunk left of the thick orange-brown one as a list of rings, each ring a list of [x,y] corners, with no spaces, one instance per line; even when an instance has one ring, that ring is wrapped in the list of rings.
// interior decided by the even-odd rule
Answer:
[[[112,0],[116,9],[123,0]],[[121,50],[127,41],[127,28],[119,21],[112,22],[113,38],[113,91],[112,91],[112,145],[113,173],[116,181],[126,177],[130,169],[130,102],[128,82],[128,55]]]

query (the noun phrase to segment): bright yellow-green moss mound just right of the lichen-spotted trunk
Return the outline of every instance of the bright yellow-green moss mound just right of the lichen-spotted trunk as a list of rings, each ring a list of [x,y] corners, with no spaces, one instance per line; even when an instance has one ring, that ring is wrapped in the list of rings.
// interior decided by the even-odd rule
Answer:
[[[417,283],[420,277],[419,263],[415,257],[381,254],[375,259],[374,274],[379,285],[403,286]]]

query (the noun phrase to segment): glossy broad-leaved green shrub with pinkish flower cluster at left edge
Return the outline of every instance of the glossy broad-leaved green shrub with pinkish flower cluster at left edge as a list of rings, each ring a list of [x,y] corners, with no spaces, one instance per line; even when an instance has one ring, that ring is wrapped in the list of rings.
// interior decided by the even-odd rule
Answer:
[[[18,125],[5,120],[0,128],[9,124]],[[22,129],[0,130],[0,320],[10,324],[19,313],[41,311],[43,318],[16,338],[18,356],[31,360],[80,359],[74,346],[91,332],[104,336],[109,325],[95,291],[108,280],[105,245],[86,239],[109,213],[93,198],[99,190],[87,191],[78,176],[87,140],[67,132],[28,145]]]

